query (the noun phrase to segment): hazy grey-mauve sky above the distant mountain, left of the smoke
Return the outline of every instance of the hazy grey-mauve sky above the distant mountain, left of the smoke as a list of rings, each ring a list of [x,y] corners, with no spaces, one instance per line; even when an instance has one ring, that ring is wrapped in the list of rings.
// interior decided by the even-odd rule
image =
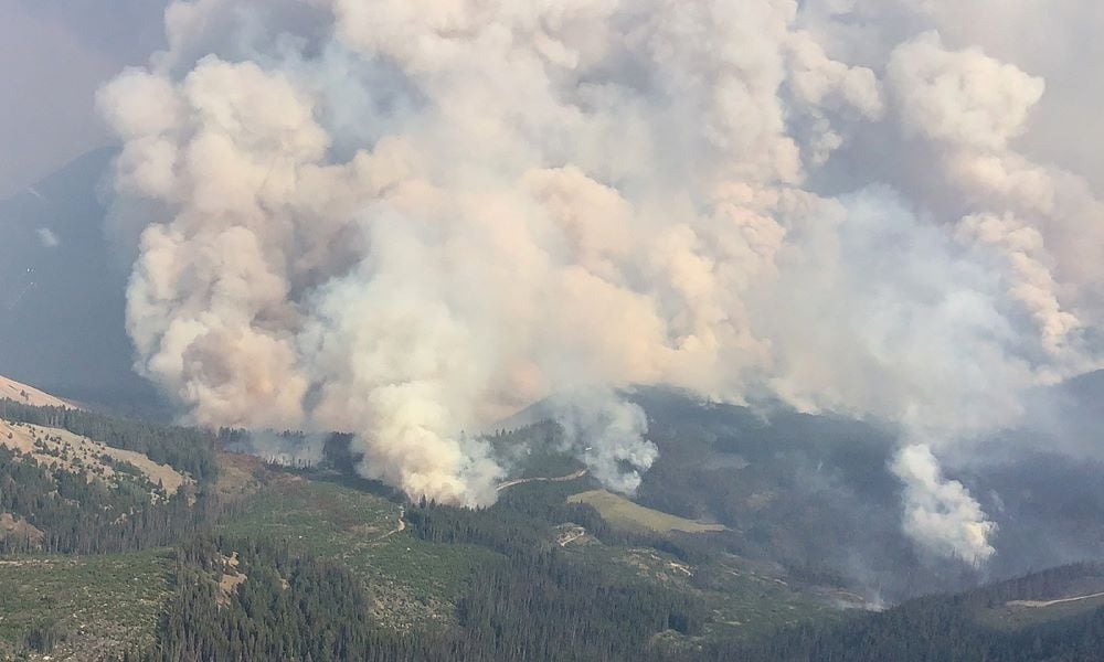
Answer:
[[[99,85],[162,47],[163,0],[0,0],[0,197],[110,141]]]

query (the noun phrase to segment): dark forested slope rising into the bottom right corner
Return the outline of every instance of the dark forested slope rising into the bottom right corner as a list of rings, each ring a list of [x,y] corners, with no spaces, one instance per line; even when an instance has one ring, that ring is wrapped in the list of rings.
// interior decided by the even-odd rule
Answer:
[[[1090,662],[1102,651],[1104,565],[1075,564],[839,624],[794,628],[752,643],[710,644],[689,659]]]

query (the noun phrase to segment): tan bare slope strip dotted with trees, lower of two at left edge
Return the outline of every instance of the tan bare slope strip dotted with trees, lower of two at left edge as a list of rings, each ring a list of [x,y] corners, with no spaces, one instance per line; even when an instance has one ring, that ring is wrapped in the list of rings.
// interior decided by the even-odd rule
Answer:
[[[168,465],[158,465],[140,452],[112,448],[60,428],[0,420],[0,446],[30,453],[42,466],[84,472],[88,480],[96,477],[108,482],[117,480],[118,471],[112,462],[104,459],[107,456],[116,462],[132,466],[151,483],[164,488],[169,494],[185,482],[192,482],[190,477]]]

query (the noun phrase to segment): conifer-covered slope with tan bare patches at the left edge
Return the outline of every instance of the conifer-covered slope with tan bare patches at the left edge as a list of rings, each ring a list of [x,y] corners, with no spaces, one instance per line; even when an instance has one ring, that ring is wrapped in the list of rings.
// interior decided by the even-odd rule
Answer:
[[[0,551],[93,554],[158,547],[212,516],[216,468],[210,435],[64,407],[11,401],[2,406],[0,516],[9,524],[0,528]],[[166,474],[172,479],[168,484],[147,473],[160,462],[181,473]]]

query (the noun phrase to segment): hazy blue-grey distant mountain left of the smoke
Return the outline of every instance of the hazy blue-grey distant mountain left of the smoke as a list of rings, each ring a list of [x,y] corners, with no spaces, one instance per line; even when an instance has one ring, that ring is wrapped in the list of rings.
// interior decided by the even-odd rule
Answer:
[[[97,194],[115,150],[88,152],[0,201],[0,373],[119,412],[159,407],[131,370],[127,269]]]

